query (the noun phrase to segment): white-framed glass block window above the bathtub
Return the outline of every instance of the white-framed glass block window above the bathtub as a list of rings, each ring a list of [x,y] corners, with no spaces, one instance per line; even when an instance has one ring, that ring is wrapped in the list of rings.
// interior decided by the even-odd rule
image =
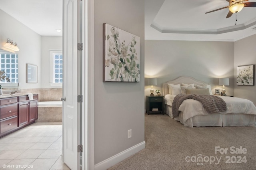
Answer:
[[[62,51],[50,51],[51,55],[51,86],[62,86],[63,58]]]

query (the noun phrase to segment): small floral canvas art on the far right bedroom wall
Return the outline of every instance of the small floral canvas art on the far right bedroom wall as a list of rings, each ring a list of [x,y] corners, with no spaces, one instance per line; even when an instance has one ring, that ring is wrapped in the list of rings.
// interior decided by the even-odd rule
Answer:
[[[254,65],[238,66],[236,68],[236,84],[254,86]]]

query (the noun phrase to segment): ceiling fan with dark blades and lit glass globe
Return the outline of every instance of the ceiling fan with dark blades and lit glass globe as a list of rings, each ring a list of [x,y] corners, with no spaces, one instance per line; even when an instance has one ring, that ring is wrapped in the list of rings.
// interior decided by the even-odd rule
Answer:
[[[216,10],[212,10],[212,11],[206,12],[205,14],[229,8],[228,15],[226,16],[226,18],[229,18],[230,16],[232,16],[233,13],[240,12],[243,7],[256,7],[256,2],[246,2],[248,0],[226,0],[226,1],[229,2],[229,6],[225,6],[225,7],[216,9]]]

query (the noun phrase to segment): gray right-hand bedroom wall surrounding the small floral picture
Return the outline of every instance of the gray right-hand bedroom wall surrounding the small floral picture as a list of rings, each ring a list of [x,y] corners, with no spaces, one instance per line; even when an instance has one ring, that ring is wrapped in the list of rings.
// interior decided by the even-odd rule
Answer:
[[[234,88],[235,96],[251,100],[256,105],[256,86],[236,85],[236,67],[256,64],[256,34],[234,43]],[[255,76],[255,71],[254,71]],[[255,77],[254,77],[255,78]],[[255,83],[255,80],[254,80]]]

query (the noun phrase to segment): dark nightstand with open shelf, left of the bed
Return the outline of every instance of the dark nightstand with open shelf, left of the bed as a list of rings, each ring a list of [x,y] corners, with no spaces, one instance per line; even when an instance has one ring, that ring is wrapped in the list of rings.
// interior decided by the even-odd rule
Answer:
[[[164,114],[164,96],[147,96],[146,112]]]

